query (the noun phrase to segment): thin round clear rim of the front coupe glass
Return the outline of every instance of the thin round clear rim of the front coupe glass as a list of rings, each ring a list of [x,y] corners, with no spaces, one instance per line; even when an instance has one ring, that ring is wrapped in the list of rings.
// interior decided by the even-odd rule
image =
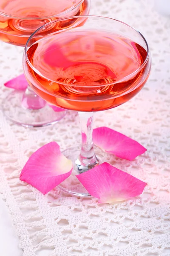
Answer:
[[[28,41],[27,41],[27,43],[26,43],[25,49],[24,49],[24,55],[25,55],[26,61],[27,61],[28,65],[31,67],[31,69],[34,70],[34,72],[36,72],[36,73],[37,73],[39,76],[41,76],[43,79],[50,80],[50,81],[52,81],[52,82],[54,82],[54,83],[57,83],[57,84],[67,85],[67,86],[70,86],[70,87],[71,87],[71,86],[89,87],[88,85],[84,85],[84,84],[78,84],[78,85],[76,85],[76,84],[67,84],[67,83],[62,83],[62,82],[60,82],[60,81],[54,81],[54,80],[52,80],[52,79],[49,79],[48,77],[46,77],[46,76],[44,76],[43,74],[41,74],[40,71],[37,70],[37,69],[31,64],[31,62],[30,62],[29,59],[28,59],[28,55],[27,55],[27,48],[29,48],[29,47],[28,47],[28,44],[29,44],[30,40],[31,40],[32,38],[34,38],[34,35],[36,35],[36,33],[39,32],[41,29],[43,29],[45,26],[48,26],[49,24],[52,24],[52,23],[55,23],[55,22],[60,22],[60,21],[63,21],[63,20],[75,19],[75,18],[77,18],[77,19],[80,19],[80,18],[89,18],[89,17],[105,18],[105,19],[108,19],[108,20],[114,20],[114,21],[117,21],[117,22],[119,22],[119,23],[122,23],[122,24],[124,24],[124,25],[130,27],[131,29],[133,29],[135,32],[137,32],[137,33],[142,37],[142,39],[144,40],[144,43],[146,44],[146,47],[147,47],[147,55],[146,55],[146,58],[145,58],[144,62],[142,63],[142,65],[141,65],[138,69],[136,69],[135,71],[133,71],[133,73],[130,73],[129,75],[123,77],[122,79],[120,79],[120,80],[118,80],[118,81],[111,82],[111,83],[108,83],[108,84],[97,84],[97,85],[93,85],[93,87],[109,86],[109,85],[113,85],[113,84],[118,84],[118,83],[120,83],[120,82],[124,82],[124,81],[127,80],[127,78],[134,76],[134,75],[137,74],[140,70],[142,70],[142,68],[145,66],[145,64],[147,63],[147,61],[149,60],[149,57],[150,57],[149,46],[148,46],[147,41],[146,41],[146,39],[144,38],[144,36],[143,36],[137,29],[133,28],[132,26],[128,25],[127,23],[125,23],[125,22],[123,22],[123,21],[116,20],[116,19],[113,19],[113,18],[110,18],[110,17],[96,16],[96,15],[82,15],[82,16],[65,17],[65,18],[62,18],[62,19],[59,19],[59,20],[54,20],[54,21],[51,21],[51,22],[49,22],[49,23],[46,23],[45,25],[43,25],[43,26],[41,26],[39,29],[37,29],[37,30],[29,37],[29,39],[28,39]],[[76,23],[76,24],[77,24],[77,23]],[[75,24],[75,25],[76,25],[76,24]],[[75,28],[75,27],[74,27],[74,28]],[[68,29],[70,29],[70,28],[68,28]],[[61,32],[65,32],[65,31],[67,31],[67,29],[62,29],[62,30],[59,30],[59,31],[57,31],[57,32],[55,32],[55,33],[56,33],[56,34],[59,34],[59,33],[61,33]],[[35,42],[35,43],[36,43],[36,42]],[[33,44],[32,44],[32,45],[33,45]],[[31,45],[31,46],[32,46],[32,45]],[[24,56],[23,56],[23,57],[24,57]]]

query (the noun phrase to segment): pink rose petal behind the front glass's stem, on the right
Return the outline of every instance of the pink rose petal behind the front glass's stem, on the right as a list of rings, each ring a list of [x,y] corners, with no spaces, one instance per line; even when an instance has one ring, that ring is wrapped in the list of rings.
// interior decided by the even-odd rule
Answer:
[[[136,140],[132,140],[108,127],[94,129],[93,141],[102,150],[126,160],[133,160],[146,151],[146,148]]]

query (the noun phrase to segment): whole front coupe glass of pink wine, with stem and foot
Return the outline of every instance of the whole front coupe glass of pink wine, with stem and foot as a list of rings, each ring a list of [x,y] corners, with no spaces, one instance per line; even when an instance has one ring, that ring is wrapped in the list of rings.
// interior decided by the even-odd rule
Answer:
[[[88,196],[76,175],[106,161],[103,151],[94,150],[94,112],[115,108],[135,96],[149,77],[151,56],[142,34],[119,20],[82,16],[82,26],[60,30],[74,19],[53,21],[34,32],[25,47],[23,68],[31,88],[45,101],[79,112],[82,145],[63,151],[74,169],[59,187]],[[54,24],[59,31],[48,32]],[[35,42],[42,31],[46,35]]]

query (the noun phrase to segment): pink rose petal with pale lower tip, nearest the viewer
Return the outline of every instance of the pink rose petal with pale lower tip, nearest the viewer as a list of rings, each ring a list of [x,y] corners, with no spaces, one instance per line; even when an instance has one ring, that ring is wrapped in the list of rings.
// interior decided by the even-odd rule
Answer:
[[[113,203],[136,197],[142,194],[147,185],[109,163],[102,163],[76,177],[92,196],[99,198],[99,203]]]

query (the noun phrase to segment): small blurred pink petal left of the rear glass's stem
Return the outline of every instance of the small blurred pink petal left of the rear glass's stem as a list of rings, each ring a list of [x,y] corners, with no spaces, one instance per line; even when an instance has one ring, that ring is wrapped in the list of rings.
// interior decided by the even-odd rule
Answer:
[[[4,85],[15,90],[26,90],[28,87],[28,82],[26,81],[24,74],[22,74],[9,80]]]

